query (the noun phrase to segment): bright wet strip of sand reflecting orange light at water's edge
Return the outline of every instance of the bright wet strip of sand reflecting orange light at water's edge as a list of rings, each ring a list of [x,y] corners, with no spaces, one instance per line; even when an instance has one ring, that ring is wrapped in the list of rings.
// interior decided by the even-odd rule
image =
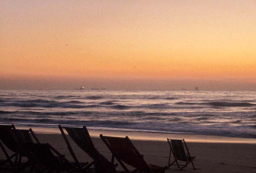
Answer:
[[[58,127],[36,127],[36,126],[16,126],[17,129],[29,129],[38,134],[61,134]],[[117,131],[106,129],[91,129],[87,127],[92,138],[100,138],[100,134],[125,137],[129,136],[131,140],[136,141],[159,141],[165,142],[167,138],[185,139],[186,142],[194,143],[230,143],[230,144],[253,144],[256,145],[256,138],[239,138],[217,135],[200,135],[184,133],[156,133],[156,132],[137,132],[137,131]]]

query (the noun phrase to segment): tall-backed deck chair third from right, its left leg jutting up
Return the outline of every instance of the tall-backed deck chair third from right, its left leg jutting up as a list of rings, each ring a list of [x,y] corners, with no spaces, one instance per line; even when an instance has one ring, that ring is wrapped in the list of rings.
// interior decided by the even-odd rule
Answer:
[[[97,173],[115,173],[117,165],[113,165],[108,161],[102,154],[97,151],[94,147],[94,144],[91,140],[91,136],[87,131],[87,128],[84,126],[83,128],[76,128],[76,127],[62,127],[58,125],[63,138],[68,146],[68,150],[71,153],[73,159],[75,160],[75,165],[80,172],[87,170],[89,167],[94,165],[94,169]],[[80,163],[78,158],[75,155],[75,152],[71,148],[71,145],[68,141],[68,138],[64,132],[65,129],[68,132],[68,135],[73,139],[73,141],[81,148],[85,153],[87,153],[94,161],[90,164]]]

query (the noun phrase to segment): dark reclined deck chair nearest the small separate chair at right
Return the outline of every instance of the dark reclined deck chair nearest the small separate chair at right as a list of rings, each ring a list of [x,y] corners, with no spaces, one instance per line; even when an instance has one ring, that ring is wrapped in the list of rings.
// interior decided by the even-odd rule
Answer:
[[[113,163],[114,158],[116,158],[126,173],[140,173],[142,171],[147,173],[164,173],[165,170],[168,169],[168,167],[147,164],[143,159],[143,155],[139,154],[139,151],[137,151],[128,136],[119,138],[100,134],[100,138],[113,154],[111,162]],[[130,172],[124,163],[136,169]]]

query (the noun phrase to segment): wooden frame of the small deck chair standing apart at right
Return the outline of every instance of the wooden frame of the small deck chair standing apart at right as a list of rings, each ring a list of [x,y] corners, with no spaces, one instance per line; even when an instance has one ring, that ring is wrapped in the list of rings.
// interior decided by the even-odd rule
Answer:
[[[185,167],[188,166],[188,164],[191,163],[192,166],[193,166],[193,168],[194,168],[194,170],[196,170],[196,168],[194,167],[193,159],[189,159],[189,158],[191,158],[191,155],[190,155],[190,153],[189,153],[189,149],[188,149],[188,146],[187,146],[187,144],[186,144],[186,142],[185,142],[185,139],[180,140],[180,141],[183,142],[183,144],[185,145],[185,148],[186,148],[186,150],[187,150],[187,155],[186,155],[187,160],[185,161],[185,164],[184,164],[184,165],[181,165],[181,164],[178,163],[178,160],[179,160],[179,159],[178,159],[178,158],[175,156],[175,154],[174,154],[174,151],[173,151],[173,148],[172,148],[172,144],[171,144],[171,140],[173,140],[173,139],[167,138],[168,144],[169,144],[169,146],[170,146],[168,167],[171,167],[172,165],[177,165],[178,168],[180,168],[180,170],[183,170]],[[177,139],[175,139],[175,140],[177,140]],[[183,147],[184,147],[184,145],[183,145]],[[171,163],[171,155],[173,155],[173,157],[174,157],[174,161],[173,161],[172,163]],[[183,160],[181,160],[181,161],[183,161]],[[176,164],[175,164],[175,163],[176,163]]]

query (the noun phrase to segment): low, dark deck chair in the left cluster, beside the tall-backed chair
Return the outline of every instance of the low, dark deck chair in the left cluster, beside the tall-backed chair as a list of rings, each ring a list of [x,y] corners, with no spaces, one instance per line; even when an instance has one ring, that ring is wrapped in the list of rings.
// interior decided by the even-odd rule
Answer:
[[[73,165],[65,158],[65,155],[60,154],[49,143],[29,143],[21,146],[22,151],[25,151],[29,161],[32,163],[30,173],[51,173],[56,171],[69,170],[74,168]]]

